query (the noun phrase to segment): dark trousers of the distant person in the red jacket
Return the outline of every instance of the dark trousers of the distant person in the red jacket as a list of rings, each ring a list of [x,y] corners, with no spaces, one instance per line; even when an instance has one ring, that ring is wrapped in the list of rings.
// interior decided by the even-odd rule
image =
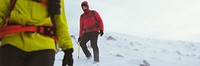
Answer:
[[[97,39],[98,39],[98,32],[89,32],[83,34],[83,37],[81,38],[81,48],[86,55],[87,58],[91,57],[91,53],[89,52],[86,43],[90,40],[91,42],[91,47],[93,48],[93,53],[94,53],[94,61],[99,62],[99,48],[97,46]]]

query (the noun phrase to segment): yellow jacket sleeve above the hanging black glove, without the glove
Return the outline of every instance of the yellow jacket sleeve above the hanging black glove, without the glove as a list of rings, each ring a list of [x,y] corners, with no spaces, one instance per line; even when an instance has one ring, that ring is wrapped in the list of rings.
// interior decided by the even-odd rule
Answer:
[[[61,14],[55,15],[56,20],[56,34],[59,42],[59,47],[62,50],[73,48],[72,39],[68,31],[67,20],[64,10],[64,0],[61,0]]]

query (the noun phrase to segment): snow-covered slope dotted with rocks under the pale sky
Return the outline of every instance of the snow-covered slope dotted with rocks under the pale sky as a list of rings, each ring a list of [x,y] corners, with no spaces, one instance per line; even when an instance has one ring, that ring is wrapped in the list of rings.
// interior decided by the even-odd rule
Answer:
[[[72,33],[74,66],[96,66],[86,60],[82,50],[78,59],[76,33]],[[90,45],[88,43],[88,45]],[[105,33],[99,37],[98,66],[139,66],[146,60],[150,66],[200,66],[200,43],[148,39],[127,34]],[[92,48],[89,47],[92,52]],[[63,52],[56,54],[54,66],[61,66]]]

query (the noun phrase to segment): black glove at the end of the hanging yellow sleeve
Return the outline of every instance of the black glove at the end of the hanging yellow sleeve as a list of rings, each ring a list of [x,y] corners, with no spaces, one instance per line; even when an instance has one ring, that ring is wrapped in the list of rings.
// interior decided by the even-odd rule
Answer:
[[[64,50],[65,55],[62,61],[62,66],[66,66],[66,65],[73,66],[73,63],[74,63],[73,56],[72,56],[73,51],[74,51],[73,48]]]

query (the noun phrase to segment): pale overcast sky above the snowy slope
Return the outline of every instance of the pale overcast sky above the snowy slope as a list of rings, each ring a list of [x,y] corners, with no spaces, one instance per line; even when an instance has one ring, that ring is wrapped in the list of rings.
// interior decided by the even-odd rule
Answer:
[[[70,30],[79,31],[84,0],[66,0]],[[200,42],[199,0],[87,0],[106,32]]]

